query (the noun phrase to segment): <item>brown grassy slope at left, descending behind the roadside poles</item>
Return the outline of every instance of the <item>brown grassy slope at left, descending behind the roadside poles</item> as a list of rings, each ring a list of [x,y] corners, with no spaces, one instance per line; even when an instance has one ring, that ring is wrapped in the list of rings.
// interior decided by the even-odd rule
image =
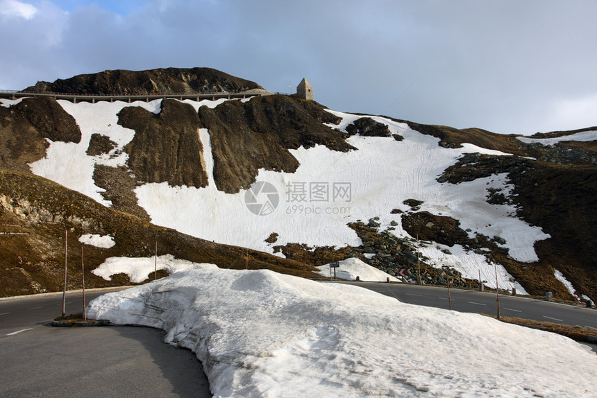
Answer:
[[[119,274],[106,281],[91,271],[110,257],[158,254],[221,268],[269,268],[314,277],[312,267],[271,254],[221,245],[175,230],[152,225],[128,213],[109,209],[81,193],[31,173],[0,171],[0,297],[61,291],[64,283],[65,236],[69,248],[68,288],[81,288],[81,246],[84,246],[85,286],[123,286],[130,279]],[[79,238],[111,236],[112,248],[83,245]],[[158,277],[167,272],[158,271]],[[153,276],[153,275],[152,275]]]

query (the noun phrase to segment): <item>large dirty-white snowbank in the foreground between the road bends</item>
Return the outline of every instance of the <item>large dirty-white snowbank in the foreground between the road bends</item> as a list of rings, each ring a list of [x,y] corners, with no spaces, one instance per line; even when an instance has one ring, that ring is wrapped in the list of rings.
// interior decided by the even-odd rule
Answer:
[[[269,270],[192,270],[90,303],[164,329],[215,397],[594,397],[569,338]]]

